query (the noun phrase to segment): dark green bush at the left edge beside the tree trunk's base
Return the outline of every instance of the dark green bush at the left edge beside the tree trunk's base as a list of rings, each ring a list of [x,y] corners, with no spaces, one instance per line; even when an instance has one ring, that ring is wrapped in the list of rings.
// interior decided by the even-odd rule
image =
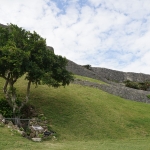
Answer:
[[[5,99],[0,99],[0,113],[5,118],[11,118],[13,116],[13,110]]]

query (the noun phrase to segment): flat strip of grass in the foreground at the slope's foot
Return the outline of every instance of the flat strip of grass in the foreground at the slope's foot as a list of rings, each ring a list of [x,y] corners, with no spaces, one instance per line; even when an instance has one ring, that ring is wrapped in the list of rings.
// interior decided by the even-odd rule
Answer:
[[[0,127],[1,150],[149,150],[150,138],[126,140],[88,140],[88,141],[29,141],[11,131]]]

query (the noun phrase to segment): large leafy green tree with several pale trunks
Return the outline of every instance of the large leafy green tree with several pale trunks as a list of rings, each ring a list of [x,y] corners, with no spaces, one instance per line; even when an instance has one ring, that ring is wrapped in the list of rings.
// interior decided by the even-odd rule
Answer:
[[[3,92],[13,109],[14,117],[28,102],[31,83],[36,85],[66,86],[73,80],[71,72],[66,70],[67,60],[55,55],[46,46],[46,40],[38,35],[9,24],[0,27],[0,77],[5,79]],[[26,97],[17,103],[14,84],[25,75],[28,81]]]

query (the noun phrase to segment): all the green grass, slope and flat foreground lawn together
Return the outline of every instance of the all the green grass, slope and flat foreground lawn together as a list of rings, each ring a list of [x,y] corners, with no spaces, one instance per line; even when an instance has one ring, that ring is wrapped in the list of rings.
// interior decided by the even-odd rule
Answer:
[[[76,77],[81,80],[92,80]],[[100,84],[103,83],[100,82]],[[2,86],[3,80],[0,79],[0,89]],[[20,79],[16,87],[23,96],[26,81],[23,78]],[[0,97],[2,96],[1,90]],[[145,144],[147,146],[145,149],[150,147],[148,144],[150,105],[148,104],[125,100],[99,89],[75,84],[57,89],[45,85],[35,88],[32,85],[30,103],[45,114],[50,126],[57,133],[56,143],[45,142],[52,149],[73,149],[71,148],[73,145],[74,149],[92,149],[93,147],[95,147],[93,149],[100,149],[102,146],[102,149],[111,149],[113,143],[116,145],[114,149],[117,147],[118,149],[129,149],[128,146],[131,148],[139,144],[139,140],[141,144],[137,148],[143,148]],[[12,144],[10,142],[12,137],[9,135],[10,131],[0,127],[0,141],[3,141],[3,149]],[[19,141],[20,145],[23,145],[23,149],[28,149],[31,143],[33,144],[18,135],[14,135],[14,137],[15,141]],[[4,140],[4,138],[10,141]],[[133,139],[136,139],[136,142]],[[126,146],[122,147],[123,144]],[[17,144],[13,145],[12,149],[19,149]],[[1,146],[0,144],[0,149]],[[34,149],[34,146],[37,147],[36,149],[40,149],[41,146],[42,149],[42,145],[39,143],[34,143],[31,149],[32,147]],[[43,146],[43,148],[46,147]]]

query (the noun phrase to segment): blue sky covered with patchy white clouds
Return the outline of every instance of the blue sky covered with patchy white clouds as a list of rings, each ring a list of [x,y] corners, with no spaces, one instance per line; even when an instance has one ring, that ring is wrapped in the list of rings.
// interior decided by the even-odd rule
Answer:
[[[150,0],[0,0],[0,23],[77,64],[150,74]]]

